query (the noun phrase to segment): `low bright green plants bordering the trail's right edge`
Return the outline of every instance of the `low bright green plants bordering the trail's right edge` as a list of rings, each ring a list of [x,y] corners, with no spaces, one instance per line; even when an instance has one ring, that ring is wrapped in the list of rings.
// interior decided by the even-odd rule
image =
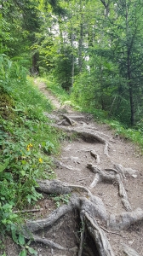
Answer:
[[[113,120],[112,117],[109,116],[109,111],[104,111],[97,108],[98,106],[94,105],[93,101],[89,101],[89,98],[87,97],[88,93],[86,94],[84,92],[84,90],[88,90],[88,83],[84,87],[84,82],[87,81],[85,73],[83,73],[83,75],[81,74],[80,77],[77,77],[77,79],[75,80],[74,88],[72,89],[71,95],[66,94],[66,91],[61,88],[60,84],[56,84],[51,76],[47,77],[46,79],[40,80],[47,83],[48,88],[52,90],[56,96],[59,97],[62,104],[70,105],[72,106],[72,108],[75,108],[79,111],[92,113],[96,121],[107,123],[108,125],[110,125],[111,128],[115,130],[116,136],[119,135],[126,139],[128,138],[133,143],[140,145],[140,148],[143,148],[142,119],[140,119],[140,122],[137,123],[134,129],[131,129],[128,128],[129,124],[124,119],[126,115],[124,115],[123,117],[123,112],[118,113],[120,114],[120,116],[118,116],[118,119],[122,121],[120,122],[119,120]],[[81,83],[81,81],[83,82],[83,91],[82,89],[80,90],[80,88],[78,87],[78,84],[79,82]],[[93,95],[89,93],[90,98],[91,96]],[[127,110],[123,109],[123,111],[128,114]]]

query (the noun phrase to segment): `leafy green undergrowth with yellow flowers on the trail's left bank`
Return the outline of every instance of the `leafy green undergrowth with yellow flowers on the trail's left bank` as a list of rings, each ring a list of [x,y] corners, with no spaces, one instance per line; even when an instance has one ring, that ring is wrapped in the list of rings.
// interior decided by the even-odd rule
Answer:
[[[5,55],[0,61],[5,72],[3,77],[1,70],[0,77],[7,78],[0,85],[0,248],[6,255],[3,239],[11,234],[22,247],[20,256],[37,255],[22,235],[16,235],[23,218],[15,210],[31,208],[43,197],[36,190],[37,179],[55,177],[51,155],[58,154],[62,134],[43,115],[52,107],[22,67]]]

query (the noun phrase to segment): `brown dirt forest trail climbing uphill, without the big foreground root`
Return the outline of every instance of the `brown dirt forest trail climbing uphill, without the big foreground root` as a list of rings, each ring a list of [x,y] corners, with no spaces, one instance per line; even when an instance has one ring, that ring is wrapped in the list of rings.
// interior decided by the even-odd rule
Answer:
[[[66,140],[62,143],[60,158],[56,162],[57,179],[61,182],[70,183],[75,186],[89,188],[93,195],[100,197],[103,201],[108,214],[120,214],[122,212],[134,211],[140,207],[143,209],[143,159],[140,149],[135,147],[127,140],[118,137],[111,131],[108,125],[99,125],[94,122],[89,114],[77,113],[72,108],[60,106],[60,102],[46,89],[45,84],[37,84],[39,90],[47,96],[55,107],[51,118],[54,119],[54,125],[67,131],[68,129],[79,131],[79,137],[75,140]],[[78,127],[78,128],[76,128]],[[84,137],[82,131],[95,131],[96,134],[108,142],[107,148],[105,143],[93,139],[92,136]],[[107,151],[106,151],[107,149]],[[123,187],[127,195],[127,201],[130,207],[125,209],[123,204],[123,195],[119,196],[118,184],[115,181],[108,180],[97,183],[94,177],[97,173],[91,172],[87,164],[99,168],[100,170],[110,169],[117,170],[115,166],[122,165],[120,171],[123,172]],[[118,170],[117,170],[118,171]],[[111,171],[112,172],[112,171]],[[95,185],[95,183],[97,183]],[[125,196],[126,196],[125,195]],[[128,206],[127,206],[128,207]],[[43,214],[43,212],[42,212]],[[74,212],[74,214],[76,214]],[[60,219],[60,224],[55,225],[49,233],[54,242],[64,247],[74,247],[77,244],[76,229],[77,224],[75,215],[66,214]],[[99,221],[105,230],[107,240],[110,241],[112,251],[115,256],[126,255],[143,255],[143,222],[133,222],[125,230],[112,231],[105,227],[102,221]],[[88,238],[87,238],[88,239]],[[127,247],[123,246],[126,245]],[[131,250],[133,248],[134,251]],[[72,255],[71,252],[57,251],[56,249],[47,250],[41,248],[39,255]],[[128,254],[129,253],[129,254]],[[77,254],[75,254],[77,255]],[[85,252],[82,255],[100,255],[92,252]],[[104,255],[104,253],[103,253]],[[107,254],[108,255],[108,254]],[[112,255],[112,254],[109,254]],[[106,256],[106,254],[105,254]]]

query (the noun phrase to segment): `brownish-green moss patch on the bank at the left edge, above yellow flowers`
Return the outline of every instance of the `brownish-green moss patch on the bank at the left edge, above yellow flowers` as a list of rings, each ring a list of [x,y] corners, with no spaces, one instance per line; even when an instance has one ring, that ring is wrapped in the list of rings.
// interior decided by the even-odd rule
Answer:
[[[14,119],[14,100],[6,93],[0,95],[0,115],[3,119]]]

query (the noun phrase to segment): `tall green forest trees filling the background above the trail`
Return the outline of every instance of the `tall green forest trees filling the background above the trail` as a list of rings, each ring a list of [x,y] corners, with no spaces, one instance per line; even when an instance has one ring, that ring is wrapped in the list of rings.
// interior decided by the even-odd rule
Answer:
[[[52,74],[83,106],[142,122],[140,0],[10,0],[0,10],[1,55],[32,75]]]

